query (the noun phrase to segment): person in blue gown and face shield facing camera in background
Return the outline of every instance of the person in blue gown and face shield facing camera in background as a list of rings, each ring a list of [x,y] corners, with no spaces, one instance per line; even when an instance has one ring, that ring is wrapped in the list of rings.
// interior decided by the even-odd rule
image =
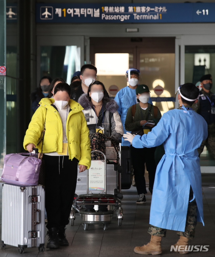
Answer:
[[[118,112],[121,117],[124,133],[128,132],[125,129],[125,119],[128,112],[128,108],[133,104],[137,104],[135,89],[139,82],[139,74],[140,74],[140,71],[138,69],[135,69],[135,68],[128,69],[126,71],[126,77],[127,77],[129,86],[126,86],[120,89],[114,98],[114,100],[119,106]],[[151,98],[149,98],[148,103],[152,104]],[[122,146],[130,146],[130,143],[128,141],[125,141],[122,138]]]

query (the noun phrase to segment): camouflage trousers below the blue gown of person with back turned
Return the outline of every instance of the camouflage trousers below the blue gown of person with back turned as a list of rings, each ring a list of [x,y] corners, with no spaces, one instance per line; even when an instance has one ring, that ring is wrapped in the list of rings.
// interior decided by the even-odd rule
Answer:
[[[190,190],[189,200],[193,199],[193,191]],[[197,223],[197,205],[196,199],[188,203],[187,219],[185,224],[185,232],[178,231],[178,235],[182,235],[186,238],[193,239],[195,235],[195,227]],[[166,236],[166,229],[162,229],[153,225],[150,225],[148,229],[150,235]]]

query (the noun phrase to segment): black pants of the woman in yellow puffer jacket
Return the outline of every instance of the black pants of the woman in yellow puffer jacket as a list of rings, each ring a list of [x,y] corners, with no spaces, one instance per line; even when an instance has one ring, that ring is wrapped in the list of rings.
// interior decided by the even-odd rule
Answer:
[[[78,160],[69,156],[43,155],[45,161],[45,208],[47,229],[69,223],[74,199]]]

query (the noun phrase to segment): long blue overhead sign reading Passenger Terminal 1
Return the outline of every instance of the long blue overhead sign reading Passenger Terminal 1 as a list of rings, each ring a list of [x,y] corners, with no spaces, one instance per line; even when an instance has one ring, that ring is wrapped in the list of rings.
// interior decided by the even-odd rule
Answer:
[[[36,4],[36,22],[215,22],[215,3]]]

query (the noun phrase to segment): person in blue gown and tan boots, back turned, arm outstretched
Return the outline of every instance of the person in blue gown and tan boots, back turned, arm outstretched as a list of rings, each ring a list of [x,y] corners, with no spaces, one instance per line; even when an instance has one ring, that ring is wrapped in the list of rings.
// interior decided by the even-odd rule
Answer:
[[[164,144],[165,154],[155,174],[151,201],[149,234],[151,241],[135,247],[140,254],[161,254],[161,238],[166,229],[179,231],[180,238],[172,249],[188,253],[188,240],[194,237],[197,221],[203,223],[201,171],[198,147],[208,136],[204,118],[193,111],[199,89],[192,83],[178,88],[179,108],[163,114],[148,134],[124,134],[133,147]]]

